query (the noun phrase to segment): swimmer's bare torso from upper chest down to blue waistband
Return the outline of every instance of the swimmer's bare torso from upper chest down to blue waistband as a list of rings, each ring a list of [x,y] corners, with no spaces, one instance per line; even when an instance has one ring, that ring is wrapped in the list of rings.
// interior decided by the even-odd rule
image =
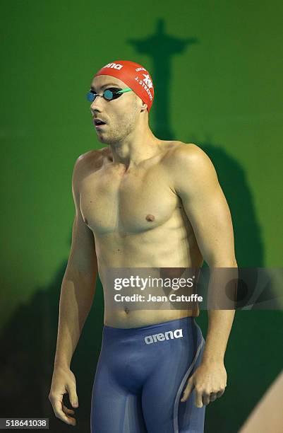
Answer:
[[[176,309],[161,304],[137,309],[135,303],[115,303],[115,289],[109,279],[111,268],[157,269],[200,268],[203,258],[181,199],[171,188],[169,163],[160,155],[149,158],[127,174],[112,163],[98,174],[85,176],[80,207],[95,235],[98,272],[104,290],[104,325],[138,328],[198,316],[197,304]],[[163,159],[165,162],[162,162]],[[169,161],[169,158],[168,158]],[[90,187],[91,185],[91,187]],[[95,197],[95,201],[92,200]],[[154,248],[154,250],[153,250]],[[147,304],[148,305],[148,304]]]

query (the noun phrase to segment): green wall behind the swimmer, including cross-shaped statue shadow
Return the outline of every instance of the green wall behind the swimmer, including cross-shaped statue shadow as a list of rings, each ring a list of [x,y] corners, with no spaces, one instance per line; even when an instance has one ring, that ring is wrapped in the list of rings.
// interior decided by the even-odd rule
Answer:
[[[37,308],[37,294],[54,287],[59,296],[74,216],[73,164],[100,147],[85,93],[95,71],[115,59],[151,72],[157,137],[193,142],[212,158],[231,208],[239,265],[282,267],[282,9],[276,0],[1,1],[4,335],[20,308]],[[92,315],[102,319],[101,308],[98,293]],[[231,366],[243,323],[267,320],[265,312],[256,319],[238,314],[227,350]],[[268,314],[276,340],[282,311]],[[199,323],[205,335],[205,318]],[[272,364],[260,393],[281,364]],[[222,400],[215,407],[223,408]],[[240,410],[235,423],[245,416]]]

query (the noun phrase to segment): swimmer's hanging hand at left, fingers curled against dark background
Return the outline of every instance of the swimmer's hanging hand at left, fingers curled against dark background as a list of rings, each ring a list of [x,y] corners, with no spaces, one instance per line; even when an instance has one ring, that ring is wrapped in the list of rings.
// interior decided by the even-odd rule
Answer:
[[[66,422],[69,425],[76,425],[76,419],[70,415],[74,415],[74,411],[66,408],[63,404],[63,396],[68,393],[70,403],[73,408],[78,408],[78,396],[76,392],[76,378],[73,372],[61,366],[54,368],[52,385],[49,393],[49,400],[52,404],[54,414],[59,420]]]

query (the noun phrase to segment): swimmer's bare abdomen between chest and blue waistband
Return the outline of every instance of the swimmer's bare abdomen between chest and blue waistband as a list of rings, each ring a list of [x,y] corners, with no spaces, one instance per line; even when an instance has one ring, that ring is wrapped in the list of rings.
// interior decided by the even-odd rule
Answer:
[[[147,302],[149,294],[153,296],[165,295],[167,296],[166,299],[169,299],[169,294],[172,293],[171,289],[159,287],[158,289],[140,290],[137,287],[128,287],[128,289],[117,290],[114,287],[114,278],[116,277],[129,278],[131,275],[148,277],[150,275],[152,278],[162,277],[164,281],[167,278],[189,277],[191,274],[188,274],[188,271],[191,272],[191,270],[195,275],[194,282],[196,284],[198,270],[203,265],[203,258],[194,236],[188,236],[190,239],[188,241],[189,248],[185,247],[187,244],[185,241],[181,242],[181,238],[176,232],[174,236],[174,239],[177,239],[176,243],[172,238],[164,236],[167,239],[168,250],[163,242],[159,249],[158,240],[153,242],[154,240],[151,239],[152,242],[149,243],[149,246],[145,246],[136,238],[131,241],[131,236],[127,236],[127,238],[124,245],[119,243],[121,255],[114,255],[112,253],[115,244],[113,239],[104,238],[102,241],[100,236],[96,237],[98,272],[104,291],[104,325],[114,328],[138,328],[184,317],[199,316],[200,310],[195,302],[188,304],[188,308],[186,308],[186,304],[182,303],[181,309],[177,309],[178,305],[170,301],[165,302],[164,305],[162,302],[157,304],[152,304],[152,301]],[[153,255],[150,248],[151,244],[155,245],[155,254]],[[179,248],[177,248],[178,246]],[[138,268],[141,270],[139,271]],[[193,292],[194,290],[191,289],[191,293]],[[178,291],[175,293],[176,295],[179,294]],[[114,300],[116,294],[119,294],[118,302]],[[132,294],[142,295],[146,301],[144,303],[136,302],[136,300],[128,301],[123,297]],[[143,306],[148,306],[149,309],[143,308]]]

